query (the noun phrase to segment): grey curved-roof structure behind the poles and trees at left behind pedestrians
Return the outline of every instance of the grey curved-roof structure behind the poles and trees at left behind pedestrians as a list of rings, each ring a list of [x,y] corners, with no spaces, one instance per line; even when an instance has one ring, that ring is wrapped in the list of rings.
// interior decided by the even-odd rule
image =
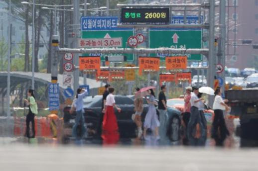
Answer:
[[[3,114],[6,108],[6,92],[7,92],[7,72],[0,72],[0,113]],[[24,105],[23,99],[27,96],[27,89],[31,88],[31,72],[11,72],[10,73],[10,96],[14,106],[22,107]],[[47,107],[48,103],[48,84],[51,83],[51,74],[35,73],[35,94],[37,100],[42,101]],[[64,103],[66,97],[64,96],[64,89],[67,87],[63,85],[63,75],[58,75],[58,83],[60,87],[60,104]],[[79,78],[79,84],[83,85],[83,77]],[[90,86],[90,95],[98,93],[98,87],[101,82],[93,79],[87,79],[87,84]],[[73,88],[73,87],[72,87]],[[15,102],[15,104],[14,104]],[[42,104],[43,104],[42,103]],[[40,107],[40,106],[39,106]]]

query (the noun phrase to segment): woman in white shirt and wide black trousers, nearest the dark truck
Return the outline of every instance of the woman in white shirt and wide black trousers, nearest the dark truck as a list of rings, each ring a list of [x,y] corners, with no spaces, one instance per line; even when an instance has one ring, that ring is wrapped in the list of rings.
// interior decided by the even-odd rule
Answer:
[[[212,123],[213,132],[212,132],[212,138],[216,141],[216,146],[223,146],[224,141],[227,138],[227,135],[229,135],[228,128],[225,123],[225,118],[223,112],[225,110],[229,110],[229,106],[225,103],[228,102],[228,100],[223,100],[221,97],[222,91],[221,87],[218,87],[215,90],[215,100],[213,103],[213,110],[214,110],[214,119]]]

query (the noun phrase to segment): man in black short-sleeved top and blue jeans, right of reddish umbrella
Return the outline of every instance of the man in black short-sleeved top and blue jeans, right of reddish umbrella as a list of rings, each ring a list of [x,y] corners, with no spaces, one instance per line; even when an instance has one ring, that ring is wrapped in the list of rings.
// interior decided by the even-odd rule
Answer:
[[[164,138],[166,136],[166,121],[168,120],[167,115],[167,100],[165,93],[166,92],[166,85],[161,86],[161,91],[158,95],[158,111],[159,111],[159,121],[160,121],[160,127],[159,127],[159,135],[161,138]]]

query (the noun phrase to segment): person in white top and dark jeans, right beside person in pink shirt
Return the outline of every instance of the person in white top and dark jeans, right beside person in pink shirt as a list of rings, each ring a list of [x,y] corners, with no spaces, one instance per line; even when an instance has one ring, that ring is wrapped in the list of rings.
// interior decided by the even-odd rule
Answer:
[[[200,101],[203,98],[198,98],[199,88],[193,87],[193,92],[191,93],[191,115],[188,123],[187,137],[189,139],[190,145],[197,146],[201,141],[203,125],[201,123],[201,117],[199,113]]]

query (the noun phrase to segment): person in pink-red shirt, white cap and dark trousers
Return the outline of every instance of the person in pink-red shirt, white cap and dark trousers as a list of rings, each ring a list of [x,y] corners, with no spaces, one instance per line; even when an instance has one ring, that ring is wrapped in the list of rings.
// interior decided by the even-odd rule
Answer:
[[[192,87],[188,86],[185,88],[186,92],[184,95],[184,113],[182,114],[182,120],[183,120],[183,124],[185,126],[185,131],[187,132],[187,128],[188,128],[188,123],[189,123],[189,119],[190,119],[190,109],[191,109],[191,103],[190,103],[190,99],[191,99],[191,92],[192,92]],[[187,138],[187,134],[186,137],[183,138],[183,142],[184,144],[188,144],[188,138]]]

